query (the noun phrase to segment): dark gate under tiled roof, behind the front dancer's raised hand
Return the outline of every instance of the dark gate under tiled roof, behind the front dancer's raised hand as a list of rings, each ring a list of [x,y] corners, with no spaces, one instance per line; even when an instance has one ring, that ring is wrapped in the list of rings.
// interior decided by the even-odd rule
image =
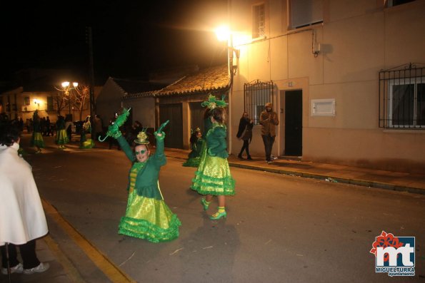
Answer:
[[[165,147],[183,148],[183,110],[181,103],[160,104],[159,105],[159,123],[170,120],[170,123],[164,128]]]

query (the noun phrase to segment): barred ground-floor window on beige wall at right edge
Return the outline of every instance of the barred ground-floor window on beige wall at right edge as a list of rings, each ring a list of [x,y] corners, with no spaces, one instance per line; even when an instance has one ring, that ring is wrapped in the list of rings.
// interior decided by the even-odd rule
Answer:
[[[379,127],[425,128],[425,67],[409,63],[379,72]]]

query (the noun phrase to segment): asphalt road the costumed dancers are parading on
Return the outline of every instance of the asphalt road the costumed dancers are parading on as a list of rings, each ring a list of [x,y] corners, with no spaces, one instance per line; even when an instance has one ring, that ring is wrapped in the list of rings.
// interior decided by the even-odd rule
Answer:
[[[177,240],[153,244],[117,234],[130,168],[123,152],[74,147],[27,160],[41,196],[136,282],[424,282],[425,195],[231,168],[228,217],[211,221],[189,190],[195,168],[169,158],[160,185],[182,226]],[[86,282],[107,282],[66,232],[49,228]],[[375,272],[369,251],[383,230],[416,237],[415,277]]]

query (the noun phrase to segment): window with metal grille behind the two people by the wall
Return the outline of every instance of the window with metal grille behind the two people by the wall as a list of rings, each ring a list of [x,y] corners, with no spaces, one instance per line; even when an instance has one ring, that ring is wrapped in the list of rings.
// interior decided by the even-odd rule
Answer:
[[[263,83],[256,80],[245,83],[244,96],[245,111],[254,120],[254,125],[258,125],[264,104],[273,102],[273,81]]]

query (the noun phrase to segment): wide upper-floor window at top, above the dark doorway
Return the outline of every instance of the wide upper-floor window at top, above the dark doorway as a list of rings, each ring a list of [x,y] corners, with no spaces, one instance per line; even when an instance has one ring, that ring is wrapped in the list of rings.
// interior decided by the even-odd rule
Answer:
[[[323,23],[323,0],[289,1],[292,29]]]

